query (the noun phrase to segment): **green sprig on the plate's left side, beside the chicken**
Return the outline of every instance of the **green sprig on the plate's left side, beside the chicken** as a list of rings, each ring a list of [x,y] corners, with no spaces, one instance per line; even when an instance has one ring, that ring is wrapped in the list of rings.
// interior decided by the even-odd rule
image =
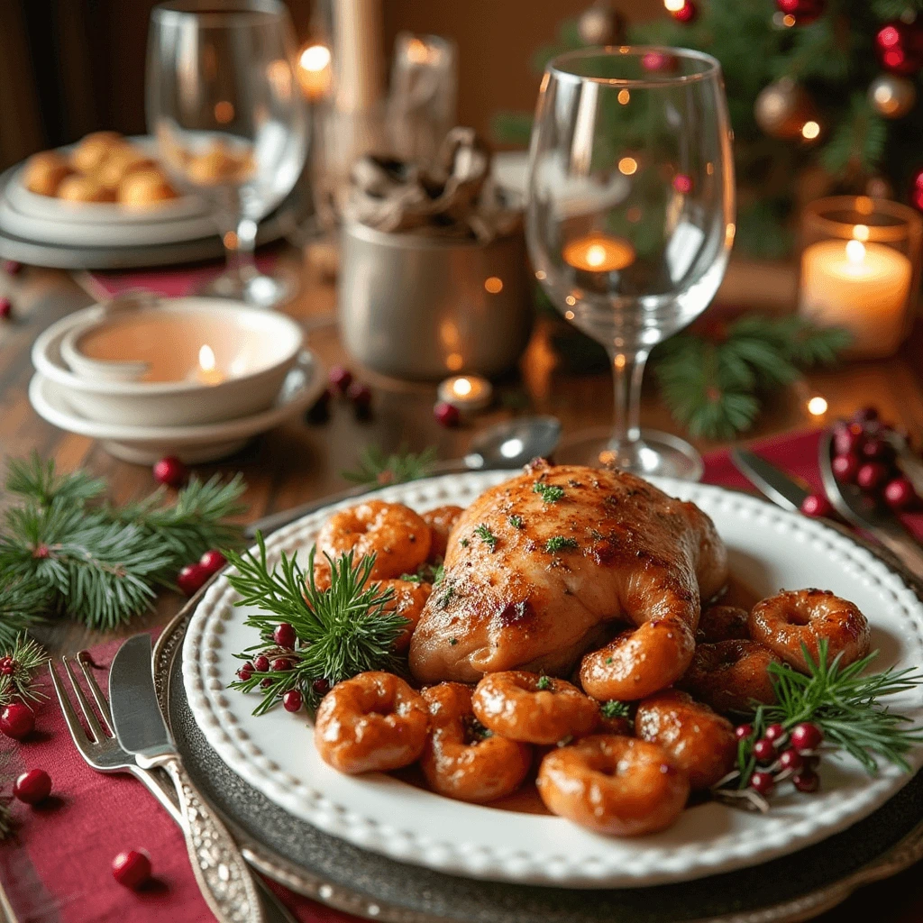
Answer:
[[[263,698],[254,714],[268,712],[289,689],[299,689],[313,710],[323,691],[342,679],[367,670],[402,672],[393,645],[407,619],[386,611],[394,599],[393,591],[382,590],[369,580],[374,555],[357,561],[352,552],[335,560],[327,557],[330,588],[320,590],[314,579],[316,547],[308,555],[306,571],[296,556],[284,553],[279,565],[270,570],[260,533],[257,543],[258,556],[249,550],[240,555],[227,553],[236,569],[236,573],[228,574],[228,581],[241,595],[237,605],[254,605],[266,613],[246,618],[246,625],[259,630],[260,642],[237,656],[249,661],[266,653],[270,658],[286,658],[289,667],[254,671],[230,684],[232,689],[261,693]],[[292,626],[297,638],[292,651],[280,651],[273,641],[274,629],[283,622]]]

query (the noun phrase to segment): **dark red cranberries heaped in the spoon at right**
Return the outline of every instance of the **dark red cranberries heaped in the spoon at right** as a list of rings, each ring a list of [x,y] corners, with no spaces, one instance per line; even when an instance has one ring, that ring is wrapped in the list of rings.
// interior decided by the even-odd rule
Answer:
[[[849,423],[833,427],[833,474],[844,484],[883,497],[893,509],[908,509],[917,493],[897,467],[888,434],[893,426],[881,423],[874,407],[865,407]]]

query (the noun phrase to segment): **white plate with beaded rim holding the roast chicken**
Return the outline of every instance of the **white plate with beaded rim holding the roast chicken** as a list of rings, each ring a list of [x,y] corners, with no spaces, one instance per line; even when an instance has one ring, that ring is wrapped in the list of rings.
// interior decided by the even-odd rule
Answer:
[[[466,473],[390,487],[387,500],[425,510],[465,506],[507,473]],[[893,571],[864,548],[818,521],[718,487],[658,480],[668,493],[699,504],[730,550],[738,579],[758,593],[820,586],[851,599],[872,624],[878,666],[923,664],[923,605]],[[354,502],[354,501],[353,501]],[[343,503],[339,506],[348,506]],[[306,549],[330,507],[274,533],[270,560]],[[568,887],[637,887],[687,881],[757,865],[844,830],[908,780],[886,766],[876,778],[849,758],[825,759],[821,792],[773,799],[768,815],[706,803],[684,811],[655,836],[618,840],[557,817],[464,804],[387,775],[352,777],[320,761],[303,718],[275,710],[254,718],[253,696],[226,685],[232,656],[257,640],[246,609],[222,577],[211,586],[186,632],[183,676],[189,705],[222,759],[271,800],[327,833],[402,862],[450,874]],[[894,701],[923,719],[923,694]],[[919,751],[912,756],[920,765]]]

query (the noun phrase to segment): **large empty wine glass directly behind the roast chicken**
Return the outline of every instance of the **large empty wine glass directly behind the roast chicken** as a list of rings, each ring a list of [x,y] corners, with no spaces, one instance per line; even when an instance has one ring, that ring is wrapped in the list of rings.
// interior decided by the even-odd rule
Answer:
[[[734,241],[721,66],[677,48],[560,55],[542,79],[529,174],[535,275],[615,374],[614,428],[556,459],[697,479],[696,450],[641,430],[641,378],[653,347],[709,305]]]

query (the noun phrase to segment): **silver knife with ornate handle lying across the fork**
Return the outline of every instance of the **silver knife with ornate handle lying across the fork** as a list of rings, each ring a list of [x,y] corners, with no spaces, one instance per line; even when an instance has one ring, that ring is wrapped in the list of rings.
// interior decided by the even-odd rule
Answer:
[[[142,769],[162,766],[183,813],[183,833],[192,870],[220,923],[262,923],[257,886],[244,857],[214,809],[198,794],[163,723],[151,671],[150,635],[129,638],[109,668],[115,736]]]

